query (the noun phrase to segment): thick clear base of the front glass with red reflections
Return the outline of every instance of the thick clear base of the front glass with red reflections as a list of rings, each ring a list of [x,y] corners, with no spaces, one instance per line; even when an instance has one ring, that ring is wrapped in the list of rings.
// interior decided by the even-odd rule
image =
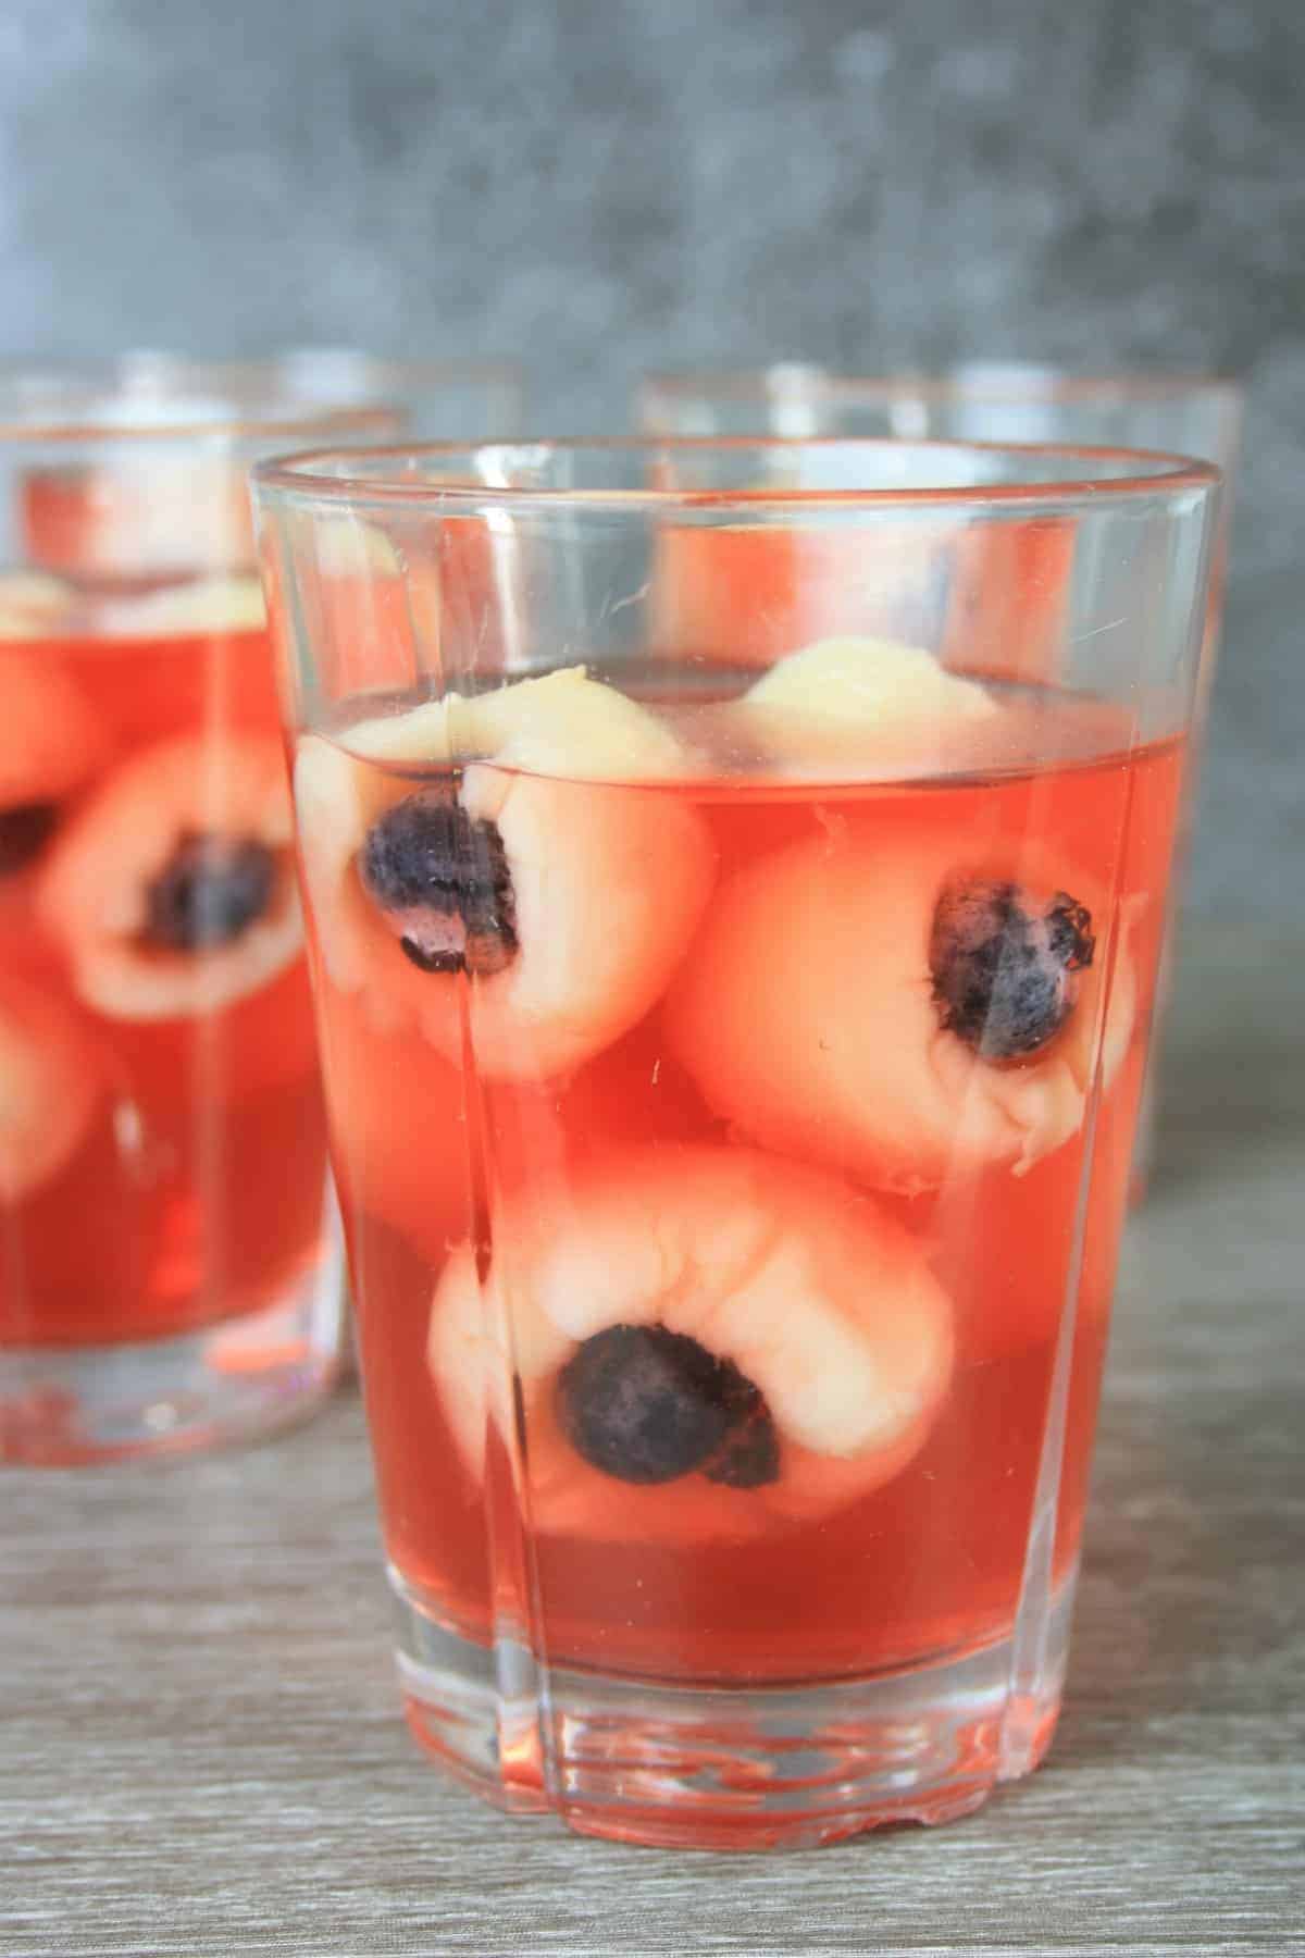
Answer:
[[[1060,1709],[1072,1582],[1033,1682],[1013,1639],[810,1686],[667,1686],[542,1666],[438,1625],[391,1570],[399,1678],[421,1745],[515,1813],[677,1848],[798,1848],[945,1823],[1031,1772]]]

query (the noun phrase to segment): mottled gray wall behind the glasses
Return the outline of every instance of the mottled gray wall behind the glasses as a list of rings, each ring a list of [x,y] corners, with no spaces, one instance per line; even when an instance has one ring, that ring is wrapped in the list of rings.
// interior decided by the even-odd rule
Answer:
[[[1193,903],[1305,910],[1303,0],[0,0],[0,352],[1213,362]]]

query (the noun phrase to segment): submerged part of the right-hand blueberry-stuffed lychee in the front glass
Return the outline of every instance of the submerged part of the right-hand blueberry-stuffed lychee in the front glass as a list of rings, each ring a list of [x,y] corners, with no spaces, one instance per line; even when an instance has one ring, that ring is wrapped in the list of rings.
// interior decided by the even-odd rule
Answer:
[[[1021,1173],[1082,1124],[1109,920],[1057,856],[839,818],[718,891],[669,1040],[742,1136],[877,1189]],[[1131,1032],[1119,963],[1107,1069]]]

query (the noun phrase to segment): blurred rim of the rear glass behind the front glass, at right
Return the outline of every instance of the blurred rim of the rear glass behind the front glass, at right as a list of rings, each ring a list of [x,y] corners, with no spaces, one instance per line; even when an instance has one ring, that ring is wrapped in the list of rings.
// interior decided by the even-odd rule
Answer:
[[[769,399],[792,386],[833,399],[933,403],[961,401],[1172,401],[1184,396],[1238,407],[1244,380],[1209,368],[1105,368],[1080,372],[1055,360],[961,360],[943,368],[849,374],[808,360],[771,360],[745,368],[650,368],[638,392],[675,399]]]

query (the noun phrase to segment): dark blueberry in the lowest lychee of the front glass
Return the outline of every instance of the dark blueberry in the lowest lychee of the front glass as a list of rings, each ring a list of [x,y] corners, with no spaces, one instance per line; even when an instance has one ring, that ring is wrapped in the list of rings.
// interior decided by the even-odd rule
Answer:
[[[665,1326],[608,1326],[585,1339],[558,1375],[558,1418],[575,1453],[622,1482],[673,1482],[702,1468],[753,1488],[779,1472],[771,1418],[751,1380]]]

